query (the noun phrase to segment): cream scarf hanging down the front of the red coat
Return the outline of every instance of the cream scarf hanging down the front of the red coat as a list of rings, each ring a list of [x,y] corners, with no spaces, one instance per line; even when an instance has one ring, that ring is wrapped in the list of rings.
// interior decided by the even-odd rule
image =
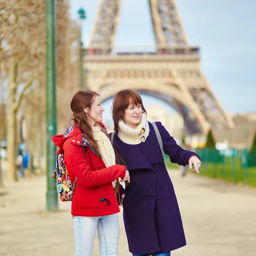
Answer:
[[[92,126],[93,128],[93,138],[96,140],[98,146],[99,146],[99,151],[102,156],[102,160],[105,163],[106,167],[110,167],[116,164],[116,157],[115,153],[113,150],[113,147],[111,145],[110,140],[102,132],[101,128],[99,125]],[[116,187],[116,180],[112,182],[113,188]]]

